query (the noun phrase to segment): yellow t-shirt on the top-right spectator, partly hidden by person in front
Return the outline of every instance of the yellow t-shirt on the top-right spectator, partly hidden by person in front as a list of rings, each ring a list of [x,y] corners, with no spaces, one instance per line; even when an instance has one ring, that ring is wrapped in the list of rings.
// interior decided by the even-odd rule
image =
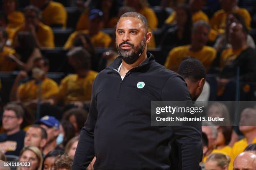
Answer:
[[[251,15],[248,13],[248,11],[244,8],[237,7],[234,13],[237,13],[241,15],[241,17],[244,19],[246,23],[247,29],[251,29]],[[212,29],[224,33],[225,32],[225,26],[226,26],[226,18],[229,14],[225,13],[224,10],[218,10],[213,15],[210,25]]]

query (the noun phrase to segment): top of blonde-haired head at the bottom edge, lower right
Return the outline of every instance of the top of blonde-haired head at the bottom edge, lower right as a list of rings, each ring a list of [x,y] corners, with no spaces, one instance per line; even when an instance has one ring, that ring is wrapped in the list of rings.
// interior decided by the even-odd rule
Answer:
[[[230,158],[222,153],[212,153],[205,162],[205,170],[228,170]]]

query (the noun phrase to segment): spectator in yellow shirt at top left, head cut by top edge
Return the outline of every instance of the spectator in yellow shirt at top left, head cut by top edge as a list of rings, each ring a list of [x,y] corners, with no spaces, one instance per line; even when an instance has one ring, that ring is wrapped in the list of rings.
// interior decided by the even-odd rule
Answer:
[[[67,11],[61,3],[52,0],[30,0],[30,2],[42,11],[41,20],[45,25],[66,28]]]

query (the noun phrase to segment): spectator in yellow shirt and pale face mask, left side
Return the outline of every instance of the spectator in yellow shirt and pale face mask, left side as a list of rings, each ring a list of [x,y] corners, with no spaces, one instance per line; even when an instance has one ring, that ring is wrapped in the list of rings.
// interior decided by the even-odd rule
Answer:
[[[20,71],[17,75],[10,94],[10,100],[18,100],[27,106],[32,106],[41,100],[49,99],[59,92],[57,83],[46,77],[49,70],[49,60],[44,57],[37,57],[33,61],[32,77],[25,83],[21,82],[28,77],[28,73]],[[41,86],[41,94],[39,96],[39,86]]]

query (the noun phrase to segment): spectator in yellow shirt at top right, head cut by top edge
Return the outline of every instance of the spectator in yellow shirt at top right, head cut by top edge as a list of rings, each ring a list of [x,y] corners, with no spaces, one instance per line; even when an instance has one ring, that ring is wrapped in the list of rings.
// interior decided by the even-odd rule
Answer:
[[[221,0],[220,5],[222,9],[215,12],[210,21],[212,29],[224,33],[226,18],[231,13],[238,13],[241,15],[246,23],[247,29],[251,28],[251,16],[246,9],[237,6],[237,0]]]

